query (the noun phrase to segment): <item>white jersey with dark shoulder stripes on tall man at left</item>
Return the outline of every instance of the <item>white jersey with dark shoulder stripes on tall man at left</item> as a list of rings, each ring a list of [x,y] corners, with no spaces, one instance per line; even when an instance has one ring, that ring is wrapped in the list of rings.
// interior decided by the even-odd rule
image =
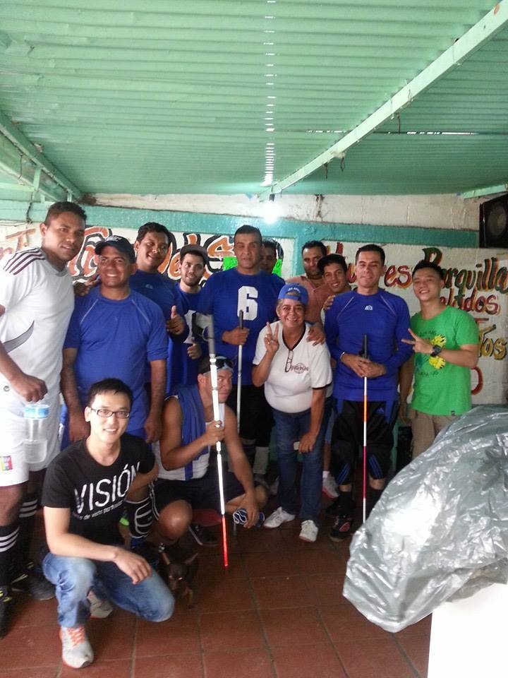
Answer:
[[[74,308],[67,268],[56,270],[42,249],[16,252],[0,268],[0,341],[14,362],[31,376],[58,388],[62,346]],[[0,374],[0,388],[8,385]]]

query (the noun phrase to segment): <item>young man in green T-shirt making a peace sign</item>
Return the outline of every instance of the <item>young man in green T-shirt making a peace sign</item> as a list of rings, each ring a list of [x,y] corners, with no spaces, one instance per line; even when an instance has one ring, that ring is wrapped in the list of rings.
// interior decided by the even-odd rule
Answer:
[[[478,326],[473,318],[441,301],[444,274],[440,266],[419,261],[413,269],[413,292],[420,312],[411,318],[409,332],[414,358],[401,371],[401,412],[414,371],[411,401],[413,458],[424,452],[441,429],[471,409],[471,369],[478,362]]]

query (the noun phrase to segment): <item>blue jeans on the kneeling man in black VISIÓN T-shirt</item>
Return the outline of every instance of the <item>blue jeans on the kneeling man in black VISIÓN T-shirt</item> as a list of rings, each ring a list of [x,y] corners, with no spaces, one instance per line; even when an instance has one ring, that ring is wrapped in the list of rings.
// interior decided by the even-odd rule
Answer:
[[[153,570],[150,577],[133,584],[114,563],[48,553],[42,571],[56,586],[58,620],[66,628],[83,626],[90,617],[90,589],[149,622],[164,622],[173,614],[174,597]]]

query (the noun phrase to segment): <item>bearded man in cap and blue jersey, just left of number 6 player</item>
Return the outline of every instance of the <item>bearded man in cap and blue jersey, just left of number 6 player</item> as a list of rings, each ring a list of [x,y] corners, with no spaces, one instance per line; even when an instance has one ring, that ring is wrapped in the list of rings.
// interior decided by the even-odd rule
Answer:
[[[200,282],[207,261],[207,251],[200,245],[183,245],[180,250],[180,283],[176,285],[176,291],[189,333],[183,343],[175,343],[171,347],[173,386],[179,383],[188,385],[196,383],[199,359],[206,350],[206,345],[200,339],[196,326],[196,311],[201,293]]]

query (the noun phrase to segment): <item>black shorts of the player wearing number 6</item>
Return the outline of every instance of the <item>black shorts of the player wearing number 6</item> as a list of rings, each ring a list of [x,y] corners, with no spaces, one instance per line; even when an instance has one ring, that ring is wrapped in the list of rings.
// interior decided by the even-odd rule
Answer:
[[[233,386],[227,405],[236,415],[236,384]],[[260,447],[270,444],[272,432],[272,408],[265,398],[264,386],[242,386],[240,410],[240,437],[255,440]]]

